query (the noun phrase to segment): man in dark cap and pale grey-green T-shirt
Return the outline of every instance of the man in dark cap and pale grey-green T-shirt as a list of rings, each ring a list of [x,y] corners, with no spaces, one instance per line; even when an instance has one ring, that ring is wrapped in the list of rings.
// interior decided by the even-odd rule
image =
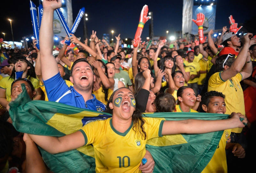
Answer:
[[[121,60],[121,56],[118,56],[118,55],[110,59],[110,62],[113,62],[116,68],[114,79],[118,79],[118,81],[123,82],[124,86],[126,87],[128,86],[128,88],[133,92],[132,82],[129,78],[128,73],[125,72],[124,70],[120,70],[120,60]]]

